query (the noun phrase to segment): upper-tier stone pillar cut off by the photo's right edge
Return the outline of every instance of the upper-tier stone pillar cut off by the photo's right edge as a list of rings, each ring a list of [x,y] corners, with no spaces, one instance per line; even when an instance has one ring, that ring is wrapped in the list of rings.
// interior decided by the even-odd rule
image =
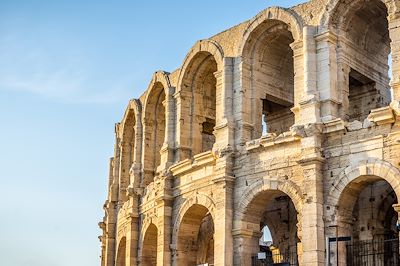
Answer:
[[[392,1],[389,9],[389,35],[392,53],[392,81],[393,101],[400,101],[400,4]]]

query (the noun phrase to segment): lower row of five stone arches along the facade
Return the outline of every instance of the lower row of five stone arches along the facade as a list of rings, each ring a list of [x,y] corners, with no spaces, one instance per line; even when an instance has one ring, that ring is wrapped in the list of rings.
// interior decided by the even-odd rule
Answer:
[[[380,160],[360,162],[343,170],[327,192],[325,235],[335,236],[331,231],[335,225],[339,236],[351,237],[352,241],[398,238],[398,213],[393,205],[400,195],[399,176],[399,169]],[[302,220],[309,217],[303,217],[303,205],[307,203],[302,195],[301,189],[290,181],[265,177],[236,199],[232,231],[234,265],[254,265],[258,253],[265,253],[265,260],[274,263],[301,263],[303,241],[317,241],[310,236],[303,240]],[[194,197],[180,205],[173,222],[172,265],[213,265],[218,254],[216,205],[205,194]],[[157,248],[162,241],[157,237],[157,226],[151,222],[142,230],[141,265],[157,265]],[[126,239],[122,238],[117,251],[118,266],[126,265],[125,249]],[[341,263],[346,265],[345,246],[339,250]],[[334,262],[335,249],[330,252],[330,261]],[[386,262],[382,265],[390,264],[390,257],[381,259]]]

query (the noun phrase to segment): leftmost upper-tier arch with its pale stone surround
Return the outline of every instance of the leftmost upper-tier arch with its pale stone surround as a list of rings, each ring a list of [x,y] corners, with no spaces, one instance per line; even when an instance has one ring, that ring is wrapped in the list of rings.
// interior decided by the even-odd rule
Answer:
[[[140,161],[142,148],[141,111],[140,101],[130,100],[119,125],[119,197],[122,201],[127,199],[126,189],[131,183],[130,169],[135,162]]]

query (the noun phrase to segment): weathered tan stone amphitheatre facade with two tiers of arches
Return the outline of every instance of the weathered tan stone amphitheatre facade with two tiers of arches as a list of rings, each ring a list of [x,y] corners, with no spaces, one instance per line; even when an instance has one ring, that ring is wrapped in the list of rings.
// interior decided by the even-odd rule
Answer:
[[[101,265],[271,265],[265,226],[280,262],[356,265],[349,243],[398,238],[399,100],[398,0],[267,8],[198,41],[116,124]]]

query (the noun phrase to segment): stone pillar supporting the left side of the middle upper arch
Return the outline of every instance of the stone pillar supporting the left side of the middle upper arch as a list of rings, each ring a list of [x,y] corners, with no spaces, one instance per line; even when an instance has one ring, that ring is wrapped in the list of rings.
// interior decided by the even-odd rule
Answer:
[[[175,160],[183,161],[192,156],[191,154],[191,108],[193,96],[188,91],[178,91],[174,94],[176,102],[176,153]]]

